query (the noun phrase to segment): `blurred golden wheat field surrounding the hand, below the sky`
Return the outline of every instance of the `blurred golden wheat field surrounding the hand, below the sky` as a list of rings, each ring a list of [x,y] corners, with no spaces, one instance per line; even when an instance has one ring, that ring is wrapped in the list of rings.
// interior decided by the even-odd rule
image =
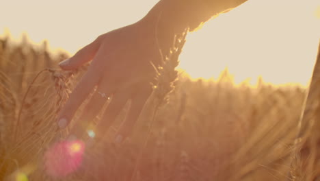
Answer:
[[[75,173],[48,176],[44,152],[68,131],[57,129],[57,112],[83,73],[59,71],[57,63],[67,57],[49,53],[46,43],[11,45],[0,39],[0,180],[131,180],[134,170],[133,180],[305,180],[309,174],[319,179],[320,167],[317,173],[314,167],[291,169],[298,162],[293,152],[306,90],[263,81],[256,88],[235,86],[227,71],[217,81],[178,77],[146,145],[152,106],[146,106],[129,141],[115,146],[106,138],[85,150]],[[312,126],[302,128],[304,143],[319,141],[306,134]]]

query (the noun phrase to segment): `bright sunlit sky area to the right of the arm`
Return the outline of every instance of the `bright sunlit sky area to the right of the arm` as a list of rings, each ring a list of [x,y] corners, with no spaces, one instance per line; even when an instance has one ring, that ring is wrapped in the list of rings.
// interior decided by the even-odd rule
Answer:
[[[316,1],[248,1],[187,36],[180,69],[215,80],[226,67],[235,83],[261,75],[273,84],[306,86],[317,56]],[[319,11],[319,10],[318,10]]]

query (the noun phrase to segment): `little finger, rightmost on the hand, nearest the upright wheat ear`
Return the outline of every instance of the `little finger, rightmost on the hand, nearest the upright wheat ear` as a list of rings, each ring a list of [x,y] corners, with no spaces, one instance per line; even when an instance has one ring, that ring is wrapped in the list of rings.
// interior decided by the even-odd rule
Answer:
[[[144,105],[146,104],[146,101],[148,100],[148,97],[152,92],[152,90],[148,90],[148,92],[146,92],[146,90],[148,89],[145,89],[143,92],[140,92],[138,95],[135,95],[135,97],[133,97],[129,113],[126,115],[126,119],[120,126],[120,130],[115,137],[116,143],[122,143],[124,138],[131,134],[133,126],[139,118],[139,115],[142,112]]]

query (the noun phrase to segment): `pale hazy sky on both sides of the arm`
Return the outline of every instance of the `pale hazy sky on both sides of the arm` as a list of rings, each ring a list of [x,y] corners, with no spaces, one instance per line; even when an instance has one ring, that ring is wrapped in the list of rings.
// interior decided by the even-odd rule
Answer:
[[[35,43],[70,54],[96,36],[141,19],[157,0],[0,0],[0,34],[27,32]],[[317,0],[252,0],[187,36],[182,69],[192,77],[217,77],[228,66],[237,83],[308,82],[320,38]],[[318,12],[318,16],[319,16]]]

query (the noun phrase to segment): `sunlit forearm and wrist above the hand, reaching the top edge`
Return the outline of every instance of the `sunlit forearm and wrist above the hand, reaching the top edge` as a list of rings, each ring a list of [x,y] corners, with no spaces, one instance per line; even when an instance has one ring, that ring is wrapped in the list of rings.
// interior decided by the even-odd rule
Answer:
[[[142,19],[148,31],[157,38],[159,49],[168,56],[174,36],[185,29],[196,29],[219,13],[237,7],[247,0],[161,0]]]

